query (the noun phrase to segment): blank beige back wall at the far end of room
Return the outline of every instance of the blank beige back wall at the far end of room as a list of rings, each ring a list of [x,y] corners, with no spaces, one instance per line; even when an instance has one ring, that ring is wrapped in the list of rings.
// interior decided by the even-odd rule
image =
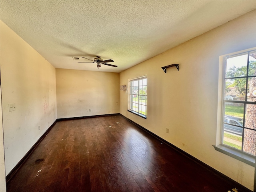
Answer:
[[[118,73],[56,69],[56,87],[58,118],[119,113]]]

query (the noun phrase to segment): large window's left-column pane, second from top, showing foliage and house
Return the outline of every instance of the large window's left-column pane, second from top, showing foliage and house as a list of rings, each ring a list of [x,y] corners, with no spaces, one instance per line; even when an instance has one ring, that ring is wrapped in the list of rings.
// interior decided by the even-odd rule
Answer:
[[[246,78],[225,80],[225,100],[245,101]]]

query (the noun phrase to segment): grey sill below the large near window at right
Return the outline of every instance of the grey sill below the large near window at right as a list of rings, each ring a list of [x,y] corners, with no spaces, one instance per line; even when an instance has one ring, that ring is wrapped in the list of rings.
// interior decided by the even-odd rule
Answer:
[[[224,145],[218,145],[218,146],[213,145],[213,146],[214,146],[215,150],[218,152],[224,153],[224,154],[226,154],[232,158],[235,158],[239,161],[242,161],[250,166],[253,166],[253,167],[255,166],[255,157],[254,156],[239,152],[235,149],[232,149],[232,148],[224,146]]]

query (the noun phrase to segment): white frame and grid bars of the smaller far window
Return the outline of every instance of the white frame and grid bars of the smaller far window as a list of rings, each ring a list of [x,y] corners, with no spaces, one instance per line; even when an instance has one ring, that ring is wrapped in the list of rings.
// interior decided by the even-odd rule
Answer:
[[[144,79],[146,79],[146,85],[144,85],[144,84],[140,85],[140,80],[144,80]],[[138,81],[138,85],[132,86],[132,82],[136,82],[136,81]],[[146,86],[146,94],[140,94],[140,91],[139,91],[140,90],[139,89],[140,86],[142,86],[142,87]],[[147,118],[147,99],[146,99],[146,103],[140,104],[139,103],[139,97],[140,96],[146,96],[146,98],[147,98],[147,88],[148,88],[147,86],[148,86],[148,82],[147,82],[147,76],[146,75],[129,79],[129,86],[128,86],[128,110],[127,111],[131,112],[133,114],[136,114],[136,115],[138,115],[138,116],[140,116],[140,117],[142,117],[144,119]],[[132,88],[133,87],[138,87],[138,93],[132,94]],[[138,96],[138,103],[133,102],[133,100],[131,100],[131,97],[134,96],[134,95]],[[133,108],[132,106],[134,106],[134,104],[138,105],[138,111],[132,110],[132,108]],[[140,107],[142,107],[142,106],[145,107],[145,114],[140,113]]]

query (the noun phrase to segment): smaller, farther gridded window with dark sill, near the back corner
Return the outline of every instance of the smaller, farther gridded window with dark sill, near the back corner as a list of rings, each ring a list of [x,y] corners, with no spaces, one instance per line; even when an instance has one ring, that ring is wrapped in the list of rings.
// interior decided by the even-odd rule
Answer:
[[[143,118],[147,117],[147,76],[129,81],[128,111]]]

